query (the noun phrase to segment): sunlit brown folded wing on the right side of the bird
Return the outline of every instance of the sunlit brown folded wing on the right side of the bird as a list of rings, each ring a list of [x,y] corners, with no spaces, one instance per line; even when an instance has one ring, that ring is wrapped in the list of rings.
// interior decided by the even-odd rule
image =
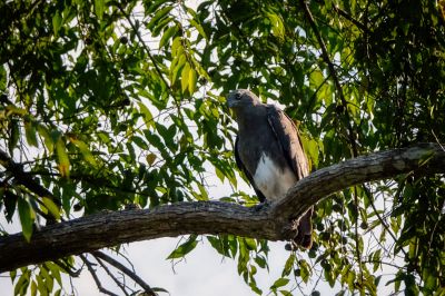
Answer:
[[[307,157],[298,130],[290,118],[277,107],[267,106],[267,120],[281,146],[283,154],[297,179],[309,175]]]

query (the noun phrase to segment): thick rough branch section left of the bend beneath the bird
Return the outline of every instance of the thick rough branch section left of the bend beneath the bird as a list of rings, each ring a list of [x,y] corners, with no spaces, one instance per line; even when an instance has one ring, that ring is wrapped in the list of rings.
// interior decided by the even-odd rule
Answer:
[[[0,238],[0,273],[93,251],[122,243],[187,234],[236,234],[279,239],[267,215],[235,204],[181,203],[150,209],[99,213],[43,227],[27,243],[21,234]]]

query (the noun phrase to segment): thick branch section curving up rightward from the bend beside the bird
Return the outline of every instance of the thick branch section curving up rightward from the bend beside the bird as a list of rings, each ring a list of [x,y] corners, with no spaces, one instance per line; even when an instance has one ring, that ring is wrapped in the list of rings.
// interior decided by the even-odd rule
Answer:
[[[318,200],[366,181],[395,177],[413,170],[445,172],[445,150],[437,144],[419,144],[357,158],[319,169],[298,181],[287,196],[273,205],[273,216],[298,217]]]

